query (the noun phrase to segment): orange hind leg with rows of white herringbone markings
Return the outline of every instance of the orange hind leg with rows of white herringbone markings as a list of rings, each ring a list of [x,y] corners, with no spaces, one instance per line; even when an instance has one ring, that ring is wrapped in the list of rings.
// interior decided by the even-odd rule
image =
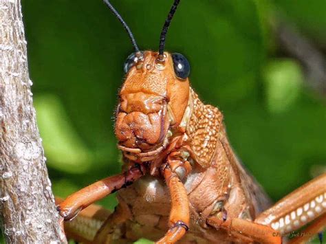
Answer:
[[[326,213],[326,173],[312,179],[262,212],[254,221],[281,234],[298,230]]]

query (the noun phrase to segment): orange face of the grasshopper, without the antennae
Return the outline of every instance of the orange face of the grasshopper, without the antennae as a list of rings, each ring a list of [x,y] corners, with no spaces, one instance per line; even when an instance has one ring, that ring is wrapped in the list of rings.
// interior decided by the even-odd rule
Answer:
[[[175,70],[180,62],[175,64],[173,55],[165,52],[164,62],[157,56],[146,51],[133,64],[129,56],[124,65],[127,76],[119,94],[116,136],[125,155],[138,161],[149,161],[163,150],[169,129],[178,130],[188,104],[187,72]]]

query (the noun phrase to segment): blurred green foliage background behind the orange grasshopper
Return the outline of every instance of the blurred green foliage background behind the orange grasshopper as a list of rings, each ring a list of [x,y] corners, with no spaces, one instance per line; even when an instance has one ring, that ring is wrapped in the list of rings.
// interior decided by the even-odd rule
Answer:
[[[172,1],[112,3],[140,48],[156,50]],[[113,116],[133,49],[102,1],[23,0],[23,14],[47,165],[55,194],[66,197],[120,171]],[[188,57],[194,89],[224,112],[237,155],[274,200],[325,166],[326,109],[302,67],[279,52],[270,19],[325,44],[325,14],[324,0],[188,0],[167,36],[166,50]]]

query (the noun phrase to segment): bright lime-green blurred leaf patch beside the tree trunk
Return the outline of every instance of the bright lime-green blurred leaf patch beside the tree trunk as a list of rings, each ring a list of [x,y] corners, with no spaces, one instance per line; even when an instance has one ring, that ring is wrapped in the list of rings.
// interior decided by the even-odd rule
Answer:
[[[93,157],[74,131],[58,97],[36,96],[34,106],[47,164],[69,173],[85,173]]]

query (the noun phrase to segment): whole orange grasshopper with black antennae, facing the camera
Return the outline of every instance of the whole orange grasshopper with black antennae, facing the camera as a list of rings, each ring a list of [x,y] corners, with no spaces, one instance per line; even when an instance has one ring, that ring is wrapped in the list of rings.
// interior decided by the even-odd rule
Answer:
[[[223,115],[190,85],[190,64],[164,52],[180,0],[164,23],[158,52],[135,52],[124,63],[115,133],[122,173],[97,181],[58,203],[65,231],[84,243],[281,243],[307,223],[326,225],[326,174],[272,205],[230,146]],[[93,203],[118,191],[114,212]],[[87,208],[88,207],[88,208]],[[85,210],[84,210],[85,209]],[[292,242],[306,241],[311,235]]]

